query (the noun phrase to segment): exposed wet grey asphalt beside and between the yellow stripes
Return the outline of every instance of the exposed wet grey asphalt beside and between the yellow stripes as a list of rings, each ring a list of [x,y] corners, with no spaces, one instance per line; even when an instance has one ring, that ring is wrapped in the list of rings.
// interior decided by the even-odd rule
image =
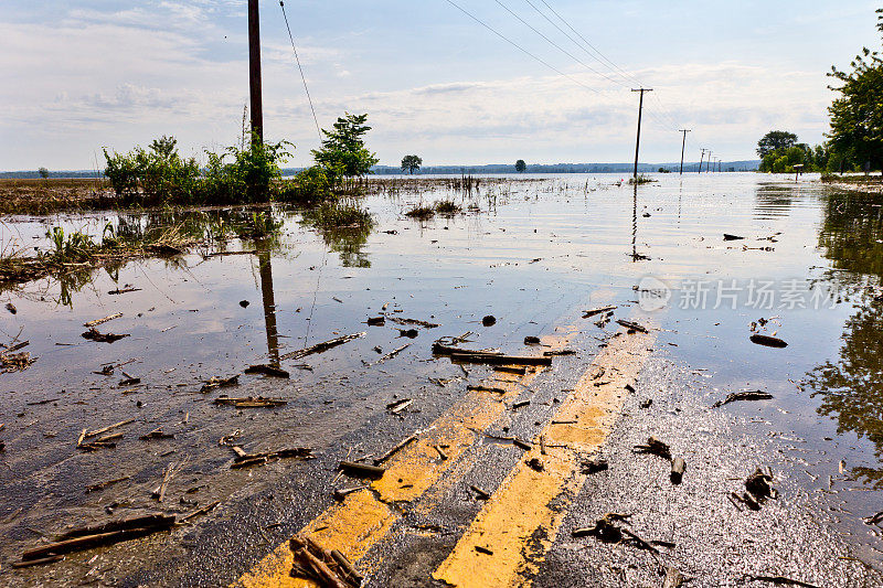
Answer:
[[[587,338],[582,343],[585,351],[562,357],[531,386],[530,407],[488,434],[529,438],[535,432],[536,424],[550,418],[554,399],[566,396],[563,391],[574,385],[591,362],[594,345]],[[779,499],[759,512],[741,512],[726,499],[731,491],[743,490],[744,478],[755,467],[781,471],[783,441],[741,434],[740,423],[751,403],[712,409],[720,397],[720,392],[705,386],[702,372],[671,363],[664,351],[656,353],[602,451],[610,469],[589,477],[570,504],[553,548],[531,578],[535,585],[661,586],[664,566],[692,578],[688,586],[769,585],[752,582],[749,576],[783,576],[825,587],[881,584],[876,571],[850,558],[848,546],[826,526],[825,507],[801,492],[799,484],[776,475]],[[641,408],[648,399],[652,399],[650,407]],[[428,425],[444,408],[423,405],[401,419],[382,415],[358,430],[340,431],[333,447],[318,451],[315,461],[267,466],[279,474],[272,483],[258,492],[232,496],[192,528],[119,545],[97,556],[89,552],[52,569],[22,573],[14,580],[7,575],[4,581],[63,586],[94,577],[95,585],[106,586],[228,585],[332,504],[330,481],[336,462],[344,457],[341,448],[360,445],[375,452]],[[365,436],[369,430],[371,439]],[[635,445],[651,435],[685,458],[682,484],[670,482],[664,460],[632,452]],[[464,483],[451,489],[438,509],[426,515],[398,505],[405,516],[391,533],[393,541],[382,542],[365,558],[375,569],[369,585],[440,585],[430,579],[433,570],[483,506],[468,485],[493,492],[520,455],[511,443],[488,437],[472,449],[469,461],[474,466]],[[256,469],[253,475],[265,472]],[[631,514],[628,528],[647,541],[675,546],[660,547],[655,555],[632,545],[571,537],[573,528],[589,526],[607,512]]]

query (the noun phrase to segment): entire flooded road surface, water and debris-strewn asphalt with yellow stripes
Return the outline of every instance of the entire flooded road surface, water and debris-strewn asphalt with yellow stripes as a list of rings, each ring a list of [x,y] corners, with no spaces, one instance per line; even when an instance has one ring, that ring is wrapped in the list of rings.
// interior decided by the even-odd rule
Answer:
[[[8,346],[36,361],[0,374],[0,584],[883,585],[861,351],[883,340],[879,207],[660,180],[390,190],[358,231],[281,209],[114,220],[246,229],[6,292]],[[430,199],[466,213],[404,217]],[[278,228],[247,236],[260,214]],[[129,336],[81,338],[105,317]],[[175,524],[51,545],[148,513]]]

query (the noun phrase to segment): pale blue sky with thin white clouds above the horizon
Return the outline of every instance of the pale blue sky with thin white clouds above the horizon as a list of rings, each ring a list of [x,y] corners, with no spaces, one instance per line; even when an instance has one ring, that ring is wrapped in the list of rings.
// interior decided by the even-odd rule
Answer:
[[[281,9],[259,6],[265,137],[295,145],[287,165],[308,165],[319,135]],[[834,97],[826,74],[862,46],[880,47],[880,6],[289,0],[285,9],[319,125],[368,113],[381,163],[415,153],[433,165],[630,161],[630,89],[640,85],[653,88],[643,162],[678,161],[683,128],[689,161],[701,148],[754,159],[773,129],[818,143]],[[247,55],[246,0],[2,0],[0,170],[103,169],[103,148],[162,135],[204,160],[206,149],[240,141]]]

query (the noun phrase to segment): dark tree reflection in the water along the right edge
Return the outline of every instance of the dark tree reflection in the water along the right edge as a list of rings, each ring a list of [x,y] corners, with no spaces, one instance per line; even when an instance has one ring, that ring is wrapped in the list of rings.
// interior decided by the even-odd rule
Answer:
[[[874,443],[883,459],[883,221],[873,196],[831,194],[825,207],[819,246],[834,270],[827,278],[858,311],[844,325],[837,360],[812,370],[808,382],[821,397],[818,413],[837,419],[838,432]],[[883,467],[854,468],[855,478],[883,488]]]

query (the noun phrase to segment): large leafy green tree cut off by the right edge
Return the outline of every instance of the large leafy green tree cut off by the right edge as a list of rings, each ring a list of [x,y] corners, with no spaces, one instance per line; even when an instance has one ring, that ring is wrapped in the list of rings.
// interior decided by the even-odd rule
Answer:
[[[877,29],[883,33],[883,9]],[[854,165],[871,162],[883,169],[883,57],[868,47],[850,64],[851,72],[831,67],[840,82],[831,89],[840,97],[828,108],[831,115],[830,148]]]

